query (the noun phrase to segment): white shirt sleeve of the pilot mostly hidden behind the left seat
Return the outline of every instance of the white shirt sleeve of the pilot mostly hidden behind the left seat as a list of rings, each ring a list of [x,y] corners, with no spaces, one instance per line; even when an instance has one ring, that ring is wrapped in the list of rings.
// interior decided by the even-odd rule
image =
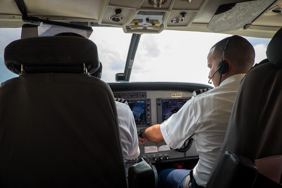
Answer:
[[[124,159],[136,159],[139,154],[138,136],[133,113],[127,104],[117,102],[118,124]]]

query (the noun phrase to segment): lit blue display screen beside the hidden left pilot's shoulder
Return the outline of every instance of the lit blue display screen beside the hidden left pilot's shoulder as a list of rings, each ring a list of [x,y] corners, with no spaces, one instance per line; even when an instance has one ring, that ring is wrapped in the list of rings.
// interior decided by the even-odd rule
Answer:
[[[146,101],[138,100],[138,101],[127,101],[128,106],[130,107],[133,117],[135,120],[135,124],[146,124]]]

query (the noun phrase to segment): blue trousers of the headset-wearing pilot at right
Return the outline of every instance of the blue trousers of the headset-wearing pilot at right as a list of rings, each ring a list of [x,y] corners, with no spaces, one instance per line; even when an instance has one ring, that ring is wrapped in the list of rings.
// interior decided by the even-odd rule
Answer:
[[[166,169],[159,173],[158,188],[183,188],[186,178],[189,176],[190,170],[183,169]],[[201,188],[196,184],[195,178],[191,178],[190,188]]]

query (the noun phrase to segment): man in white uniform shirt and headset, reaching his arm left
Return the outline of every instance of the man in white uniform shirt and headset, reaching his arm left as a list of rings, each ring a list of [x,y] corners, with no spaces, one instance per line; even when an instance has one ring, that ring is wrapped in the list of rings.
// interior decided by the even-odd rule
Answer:
[[[139,144],[146,139],[180,148],[195,133],[199,161],[193,170],[166,169],[159,174],[159,187],[205,187],[223,143],[239,85],[254,64],[253,46],[233,35],[212,46],[207,56],[209,79],[215,88],[193,92],[193,97],[162,124],[141,129]],[[141,139],[143,138],[143,139]]]

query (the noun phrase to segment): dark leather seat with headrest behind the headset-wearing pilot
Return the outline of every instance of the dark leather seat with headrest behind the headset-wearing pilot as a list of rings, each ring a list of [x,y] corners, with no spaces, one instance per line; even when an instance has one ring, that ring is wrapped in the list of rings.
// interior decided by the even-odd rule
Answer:
[[[282,187],[258,174],[236,174],[222,166],[226,152],[256,159],[282,154],[282,29],[270,41],[267,59],[255,65],[243,79],[235,98],[227,133],[207,183],[210,187]],[[232,163],[234,160],[232,161]],[[238,160],[237,160],[238,162]],[[281,164],[277,164],[281,165]],[[254,165],[252,168],[256,168]],[[225,175],[224,175],[225,174]],[[228,182],[227,175],[232,176]],[[281,175],[281,174],[280,174]],[[245,184],[244,181],[250,181]]]

